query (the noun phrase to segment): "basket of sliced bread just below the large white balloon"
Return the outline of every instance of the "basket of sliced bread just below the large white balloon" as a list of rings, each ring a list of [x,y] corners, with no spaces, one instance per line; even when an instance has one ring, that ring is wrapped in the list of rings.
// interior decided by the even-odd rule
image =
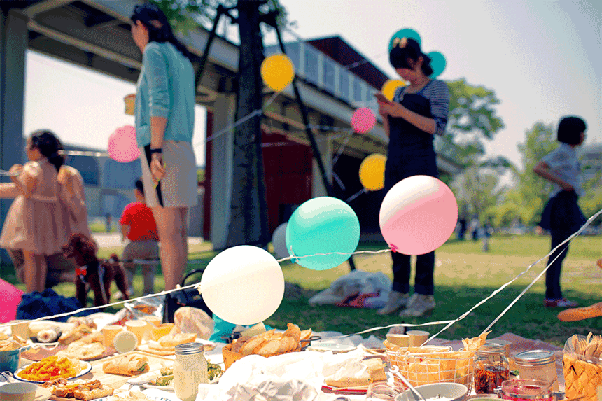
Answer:
[[[302,342],[310,337],[311,329],[301,330],[293,323],[288,323],[285,332],[276,332],[276,329],[272,329],[253,337],[239,337],[222,349],[225,368],[228,369],[232,363],[248,355],[270,357],[299,352],[302,349]]]

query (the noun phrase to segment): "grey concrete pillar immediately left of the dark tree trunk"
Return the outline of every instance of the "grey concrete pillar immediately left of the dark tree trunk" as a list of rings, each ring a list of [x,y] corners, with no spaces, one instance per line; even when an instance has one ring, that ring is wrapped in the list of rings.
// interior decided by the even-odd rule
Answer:
[[[219,94],[214,104],[214,132],[220,133],[234,122],[236,97]],[[214,248],[225,248],[230,223],[230,199],[232,199],[232,146],[234,131],[211,139],[211,242]]]

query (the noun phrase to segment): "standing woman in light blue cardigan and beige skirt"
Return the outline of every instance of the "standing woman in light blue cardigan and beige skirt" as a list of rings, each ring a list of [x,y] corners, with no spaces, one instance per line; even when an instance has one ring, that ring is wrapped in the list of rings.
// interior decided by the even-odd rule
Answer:
[[[136,6],[130,19],[143,55],[135,115],[144,193],[157,221],[165,289],[171,290],[186,272],[188,208],[197,204],[195,73],[157,6]]]

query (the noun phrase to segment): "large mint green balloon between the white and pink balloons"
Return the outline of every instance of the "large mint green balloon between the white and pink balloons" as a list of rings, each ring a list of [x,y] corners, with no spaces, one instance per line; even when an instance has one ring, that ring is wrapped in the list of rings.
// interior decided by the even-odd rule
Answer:
[[[293,261],[312,270],[337,267],[356,251],[359,241],[356,212],[334,197],[309,199],[295,210],[286,225],[286,248],[290,255],[297,256]],[[332,254],[318,255],[323,253]]]

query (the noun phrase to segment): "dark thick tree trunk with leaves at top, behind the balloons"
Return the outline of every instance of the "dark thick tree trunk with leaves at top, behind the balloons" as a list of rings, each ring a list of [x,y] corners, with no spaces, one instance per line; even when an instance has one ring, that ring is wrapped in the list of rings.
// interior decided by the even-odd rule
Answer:
[[[165,11],[179,31],[186,34],[196,24],[208,27],[218,6],[239,29],[237,77],[237,120],[262,108],[263,83],[260,75],[263,56],[262,22],[286,23],[286,9],[278,0],[153,0]],[[235,128],[232,166],[232,199],[226,246],[255,244],[267,246],[270,240],[267,197],[261,146],[261,115]]]

